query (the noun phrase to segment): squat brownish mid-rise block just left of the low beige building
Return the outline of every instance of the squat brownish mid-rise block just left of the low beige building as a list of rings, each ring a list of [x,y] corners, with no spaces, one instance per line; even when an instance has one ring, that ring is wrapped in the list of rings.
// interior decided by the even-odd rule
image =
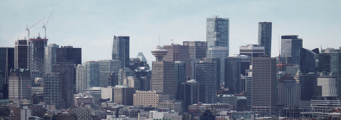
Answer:
[[[135,90],[126,85],[116,85],[114,87],[114,102],[122,105],[133,105],[133,94]]]

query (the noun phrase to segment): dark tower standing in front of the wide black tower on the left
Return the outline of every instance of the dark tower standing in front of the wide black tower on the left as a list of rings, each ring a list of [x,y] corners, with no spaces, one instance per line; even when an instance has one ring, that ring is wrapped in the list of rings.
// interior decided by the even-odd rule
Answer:
[[[75,81],[76,81],[76,66],[69,61],[60,61],[59,64],[53,65],[53,72],[60,73],[61,75],[61,87],[62,87],[62,99],[65,101],[65,108],[73,105],[73,94],[75,93]]]

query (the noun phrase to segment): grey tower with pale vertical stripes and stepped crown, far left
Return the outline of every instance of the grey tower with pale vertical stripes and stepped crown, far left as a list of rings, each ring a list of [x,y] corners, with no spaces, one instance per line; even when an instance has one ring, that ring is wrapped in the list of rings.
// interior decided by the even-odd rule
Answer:
[[[9,99],[30,99],[32,80],[31,72],[25,68],[13,68],[9,76]]]

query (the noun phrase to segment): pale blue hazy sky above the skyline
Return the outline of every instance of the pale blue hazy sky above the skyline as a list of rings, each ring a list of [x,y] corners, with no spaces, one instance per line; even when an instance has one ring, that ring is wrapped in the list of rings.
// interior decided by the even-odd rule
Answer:
[[[81,1],[81,2],[80,2]],[[82,48],[82,61],[111,58],[114,35],[130,36],[130,57],[142,51],[149,63],[158,44],[206,40],[206,17],[230,18],[230,54],[239,46],[257,44],[258,22],[273,22],[272,56],[278,36],[297,34],[303,47],[341,46],[341,0],[2,0],[0,47],[14,47],[41,18],[48,43]],[[30,36],[44,36],[43,23]]]

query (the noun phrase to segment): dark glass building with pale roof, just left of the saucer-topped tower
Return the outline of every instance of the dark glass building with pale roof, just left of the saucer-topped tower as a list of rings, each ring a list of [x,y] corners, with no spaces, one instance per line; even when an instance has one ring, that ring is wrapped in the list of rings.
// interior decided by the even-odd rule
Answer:
[[[135,70],[136,78],[140,79],[141,90],[150,90],[151,71],[146,67],[137,67]]]

